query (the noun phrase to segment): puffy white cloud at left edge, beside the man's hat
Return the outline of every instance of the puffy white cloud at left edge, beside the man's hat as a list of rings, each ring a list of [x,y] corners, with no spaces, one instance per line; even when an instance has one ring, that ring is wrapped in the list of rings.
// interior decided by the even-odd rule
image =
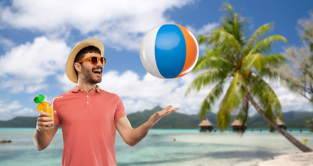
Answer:
[[[65,42],[46,37],[12,48],[0,57],[1,88],[11,93],[33,93],[45,88],[46,77],[64,71],[69,52]]]

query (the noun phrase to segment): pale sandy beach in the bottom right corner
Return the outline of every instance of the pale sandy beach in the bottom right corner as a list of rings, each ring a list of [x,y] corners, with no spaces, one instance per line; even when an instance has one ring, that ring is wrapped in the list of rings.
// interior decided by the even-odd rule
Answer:
[[[253,166],[313,166],[313,152],[275,156],[272,160],[256,163]]]

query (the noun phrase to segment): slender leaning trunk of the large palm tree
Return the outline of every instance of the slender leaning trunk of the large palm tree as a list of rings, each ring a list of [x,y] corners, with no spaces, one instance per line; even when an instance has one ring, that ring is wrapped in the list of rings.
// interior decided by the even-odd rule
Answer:
[[[264,113],[264,111],[262,111],[262,109],[257,105],[255,100],[253,100],[251,94],[248,91],[246,91],[246,95],[248,96],[248,99],[250,100],[253,107],[257,110],[257,113],[259,113],[265,121],[267,121],[269,124],[271,124],[272,127],[274,127],[278,132],[280,132],[282,134],[282,136],[285,136],[285,138],[287,138],[287,140],[289,140],[292,144],[294,144],[296,147],[298,147],[298,149],[300,149],[303,152],[313,151],[312,149],[310,149],[310,147],[305,146],[302,142],[300,142],[296,138],[294,138],[294,136],[291,136],[289,133],[287,133],[285,131],[285,129],[282,129],[281,127],[279,127],[276,122],[271,120],[271,118],[269,118]]]

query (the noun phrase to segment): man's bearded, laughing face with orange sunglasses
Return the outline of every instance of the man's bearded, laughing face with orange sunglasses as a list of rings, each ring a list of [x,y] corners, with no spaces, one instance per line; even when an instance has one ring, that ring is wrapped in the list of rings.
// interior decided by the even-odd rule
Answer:
[[[98,53],[87,53],[85,57],[101,57]],[[83,58],[83,59],[84,59]],[[103,66],[99,61],[98,64],[93,65],[90,63],[90,59],[81,64],[81,77],[85,82],[96,84],[101,82]]]

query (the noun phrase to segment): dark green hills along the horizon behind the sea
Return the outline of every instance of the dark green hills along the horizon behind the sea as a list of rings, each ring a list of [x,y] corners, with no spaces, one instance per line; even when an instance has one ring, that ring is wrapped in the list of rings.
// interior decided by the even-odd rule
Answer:
[[[141,124],[149,120],[150,116],[157,111],[162,110],[160,106],[157,106],[151,110],[145,109],[144,111],[137,111],[130,113],[127,117],[134,128],[139,127]],[[214,124],[214,129],[217,129],[216,114],[210,113],[206,118]],[[236,116],[232,116],[232,121]],[[298,112],[289,111],[282,113],[282,122],[287,124],[287,129],[306,129],[307,124],[305,120],[313,118],[313,112]],[[16,117],[12,120],[0,120],[0,127],[24,127],[35,128],[37,117]],[[198,115],[187,115],[176,111],[169,116],[162,118],[157,124],[153,126],[153,129],[198,129],[199,124]],[[228,126],[230,128],[230,125]],[[248,129],[269,129],[267,123],[258,114],[248,117],[247,122]]]

